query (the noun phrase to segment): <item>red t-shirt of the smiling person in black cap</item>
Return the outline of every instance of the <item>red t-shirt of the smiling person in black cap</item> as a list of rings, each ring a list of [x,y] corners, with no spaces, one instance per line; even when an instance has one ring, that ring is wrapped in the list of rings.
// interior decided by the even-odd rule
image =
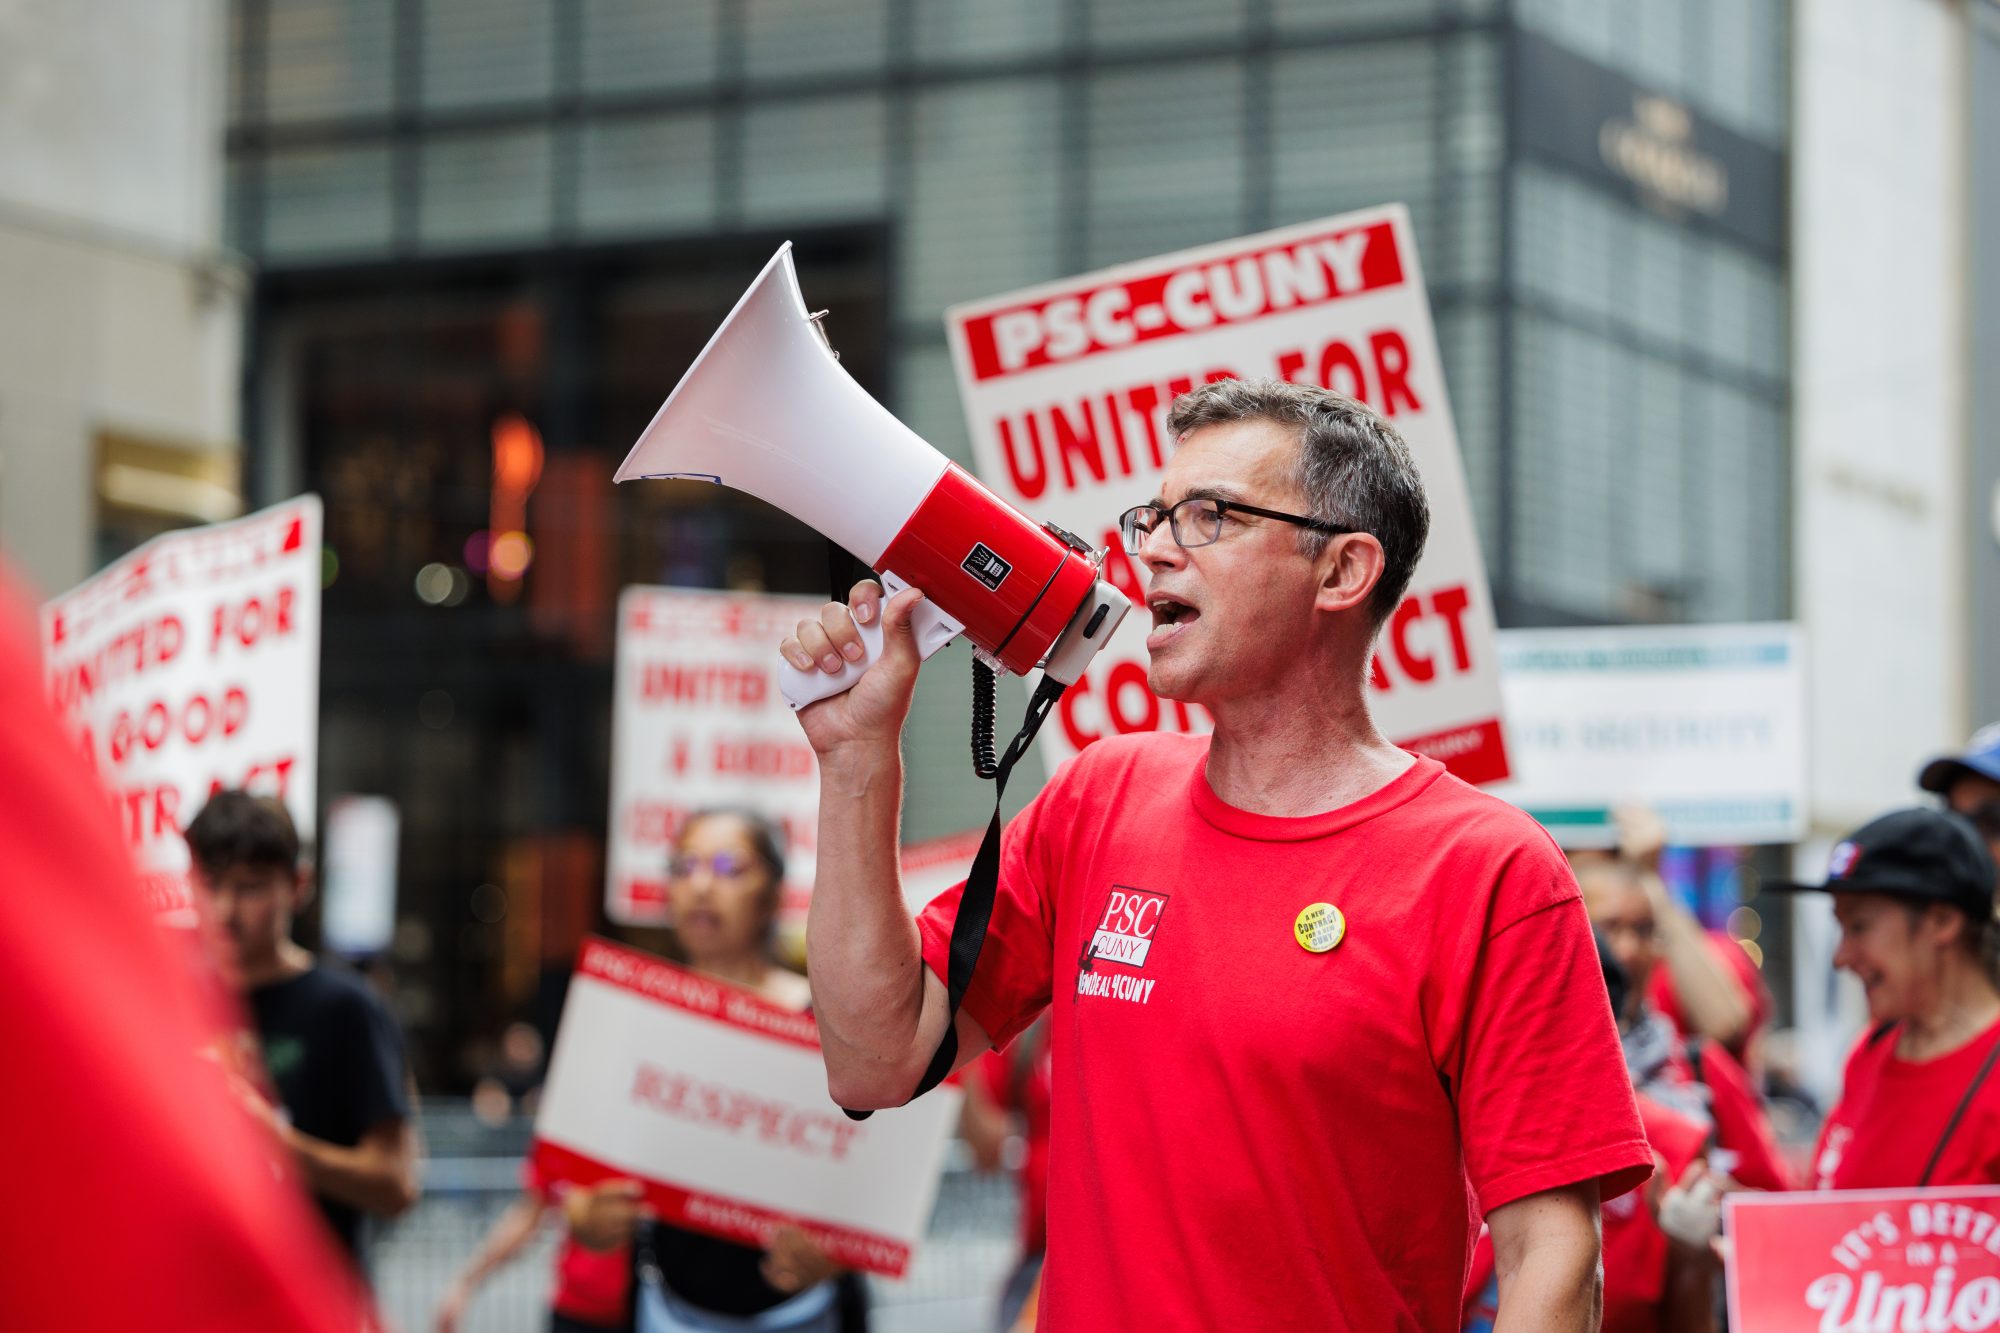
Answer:
[[[1896,1057],[1896,1029],[1870,1029],[1848,1055],[1840,1105],[1820,1127],[1814,1189],[1904,1189],[1944,1137],[2000,1023],[1928,1061]],[[2000,1069],[1986,1075],[1944,1147],[1932,1185],[2000,1185]]]

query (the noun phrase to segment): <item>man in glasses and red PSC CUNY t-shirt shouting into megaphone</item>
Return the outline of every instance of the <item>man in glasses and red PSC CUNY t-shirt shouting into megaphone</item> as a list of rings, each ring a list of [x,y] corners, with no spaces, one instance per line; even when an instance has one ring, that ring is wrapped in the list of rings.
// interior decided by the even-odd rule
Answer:
[[[882,642],[800,711],[828,1089],[898,1105],[1050,1011],[1050,1329],[1452,1329],[1480,1215],[1498,1329],[1596,1329],[1598,1201],[1652,1157],[1576,883],[1368,715],[1428,530],[1410,450],[1282,380],[1196,388],[1168,428],[1122,530],[1148,681],[1214,733],[1102,741],[1006,827],[962,1009],[960,891],[912,923],[896,867],[924,594],[862,582],[782,644],[850,679]]]

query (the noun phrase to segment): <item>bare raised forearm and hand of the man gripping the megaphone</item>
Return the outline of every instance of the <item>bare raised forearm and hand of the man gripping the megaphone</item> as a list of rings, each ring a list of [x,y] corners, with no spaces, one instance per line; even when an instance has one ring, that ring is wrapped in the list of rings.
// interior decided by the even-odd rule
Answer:
[[[826,1091],[856,1111],[896,1107],[916,1089],[944,1035],[946,991],[924,967],[902,897],[902,727],[920,664],[910,610],[922,592],[882,604],[880,584],[858,582],[848,604],[828,602],[780,646],[800,671],[838,675],[858,660],[856,620],[882,616],[882,656],[844,695],[800,711],[820,759],[820,847],[806,927],[812,1009],[826,1057]],[[988,1039],[958,1015],[958,1065]]]

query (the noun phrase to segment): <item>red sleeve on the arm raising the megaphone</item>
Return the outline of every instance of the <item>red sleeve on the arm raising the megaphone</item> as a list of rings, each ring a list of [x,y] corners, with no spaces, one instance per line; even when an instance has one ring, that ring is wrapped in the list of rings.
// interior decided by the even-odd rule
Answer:
[[[1058,773],[1000,833],[1000,887],[994,893],[994,915],[964,1001],[964,1011],[996,1051],[1014,1041],[1048,1007],[1056,939],[1052,869],[1058,861],[1052,841],[1054,831],[1064,827],[1060,811],[1068,807],[1064,777],[1080,763],[1072,761]],[[952,923],[958,919],[964,891],[964,883],[948,889],[916,919],[924,965],[946,985]]]

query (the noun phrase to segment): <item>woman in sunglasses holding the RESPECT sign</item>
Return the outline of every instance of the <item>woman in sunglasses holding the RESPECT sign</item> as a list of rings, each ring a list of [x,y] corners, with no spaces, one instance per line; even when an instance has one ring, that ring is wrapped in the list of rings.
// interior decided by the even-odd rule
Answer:
[[[762,815],[694,815],[668,861],[668,903],[688,967],[774,1005],[806,1009],[806,979],[784,969],[774,951],[782,847],[776,825]],[[648,1219],[638,1181],[568,1189],[558,1199],[530,1179],[446,1295],[440,1333],[456,1329],[472,1291],[526,1247],[550,1207],[564,1217],[552,1333],[698,1333],[750,1327],[750,1319],[772,1333],[866,1329],[860,1279],[796,1227],[780,1229],[768,1251],[752,1249]]]

